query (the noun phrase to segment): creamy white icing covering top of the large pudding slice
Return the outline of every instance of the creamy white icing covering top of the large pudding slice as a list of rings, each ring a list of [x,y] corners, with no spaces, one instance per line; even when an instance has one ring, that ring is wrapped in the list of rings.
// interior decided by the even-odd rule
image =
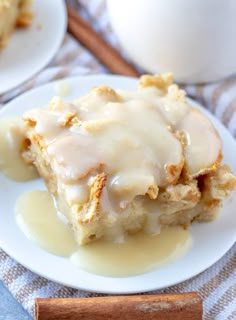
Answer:
[[[77,116],[69,126],[63,125],[68,113]],[[46,139],[68,201],[86,202],[83,179],[105,172],[107,192],[117,200],[115,211],[136,196],[149,194],[150,188],[158,192],[175,183],[184,154],[190,174],[195,174],[214,164],[221,148],[211,123],[189,107],[175,85],[166,92],[154,87],[118,93],[96,88],[74,104],[54,98],[49,110],[29,115],[36,121],[36,132]],[[175,131],[185,133],[185,149]]]

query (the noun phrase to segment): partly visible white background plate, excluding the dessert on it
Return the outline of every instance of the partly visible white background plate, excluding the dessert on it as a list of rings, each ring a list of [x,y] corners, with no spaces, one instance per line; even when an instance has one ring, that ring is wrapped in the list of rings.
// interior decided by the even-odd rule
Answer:
[[[63,0],[33,0],[32,26],[16,29],[0,50],[0,94],[30,79],[47,65],[66,32]]]

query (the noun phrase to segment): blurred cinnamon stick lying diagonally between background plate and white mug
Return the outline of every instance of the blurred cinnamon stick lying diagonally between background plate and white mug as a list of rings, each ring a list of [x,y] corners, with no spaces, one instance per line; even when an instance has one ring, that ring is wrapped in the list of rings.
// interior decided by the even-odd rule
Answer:
[[[139,73],[119,52],[108,44],[79,14],[69,5],[68,31],[86,47],[111,72],[138,77]]]

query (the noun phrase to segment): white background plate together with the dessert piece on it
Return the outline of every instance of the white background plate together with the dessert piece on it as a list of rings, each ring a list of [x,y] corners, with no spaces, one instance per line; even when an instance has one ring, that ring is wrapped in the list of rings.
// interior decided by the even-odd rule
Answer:
[[[64,0],[0,0],[0,95],[52,60],[66,25]]]

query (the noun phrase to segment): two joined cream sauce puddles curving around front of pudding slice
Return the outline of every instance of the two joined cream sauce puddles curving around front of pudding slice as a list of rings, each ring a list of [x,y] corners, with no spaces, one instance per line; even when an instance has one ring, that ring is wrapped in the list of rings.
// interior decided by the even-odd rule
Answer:
[[[192,243],[189,231],[168,227],[157,235],[140,232],[127,236],[124,243],[99,240],[79,247],[46,191],[23,194],[16,204],[16,216],[25,235],[41,248],[69,257],[80,268],[104,276],[124,277],[151,271],[183,256]]]

